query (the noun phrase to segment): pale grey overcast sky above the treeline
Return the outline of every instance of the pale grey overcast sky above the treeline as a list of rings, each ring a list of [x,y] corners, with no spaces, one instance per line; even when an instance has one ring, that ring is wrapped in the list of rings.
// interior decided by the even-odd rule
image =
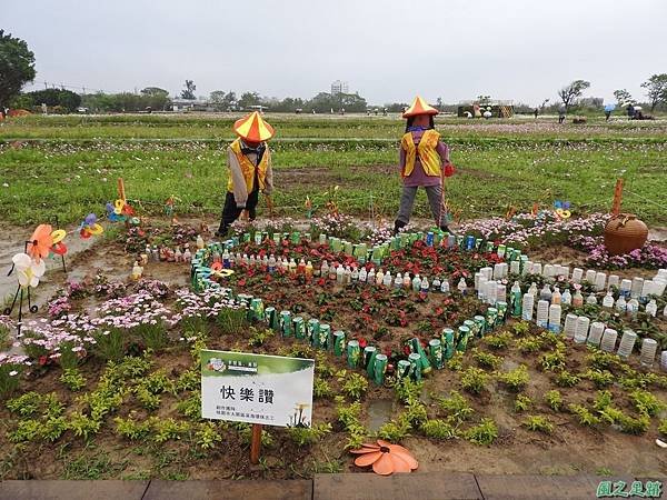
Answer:
[[[376,104],[536,104],[579,78],[643,98],[667,72],[666,23],[666,0],[0,0],[37,82],[310,98],[340,79]]]

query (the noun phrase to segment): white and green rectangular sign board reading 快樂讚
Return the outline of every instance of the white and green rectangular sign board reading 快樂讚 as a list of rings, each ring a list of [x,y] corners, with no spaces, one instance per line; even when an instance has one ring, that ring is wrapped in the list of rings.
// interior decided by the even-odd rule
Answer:
[[[201,417],[310,427],[315,360],[201,351]]]

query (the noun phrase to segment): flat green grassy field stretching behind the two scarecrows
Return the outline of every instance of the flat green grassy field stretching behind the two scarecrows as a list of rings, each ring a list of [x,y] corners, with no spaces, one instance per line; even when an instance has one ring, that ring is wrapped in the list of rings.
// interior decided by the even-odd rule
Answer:
[[[0,126],[0,218],[32,224],[58,212],[78,222],[99,211],[123,177],[128,197],[159,212],[178,198],[180,213],[220,210],[225,148],[236,117],[28,117]],[[309,196],[322,208],[335,186],[346,213],[392,219],[400,192],[396,117],[268,116],[276,126],[276,211],[302,218]],[[509,207],[570,201],[575,212],[608,210],[626,178],[624,208],[665,223],[667,121],[557,126],[554,118],[470,123],[438,120],[458,174],[447,184],[457,219],[502,216]],[[649,201],[647,201],[649,200]],[[260,202],[260,207],[263,203]],[[416,216],[428,216],[419,196]]]

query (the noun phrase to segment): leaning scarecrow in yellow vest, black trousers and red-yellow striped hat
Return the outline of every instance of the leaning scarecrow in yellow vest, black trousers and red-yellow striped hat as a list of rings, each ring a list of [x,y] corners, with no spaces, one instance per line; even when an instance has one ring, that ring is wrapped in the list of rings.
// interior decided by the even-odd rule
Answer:
[[[255,111],[237,120],[233,131],[239,137],[227,148],[229,181],[218,237],[227,236],[243,210],[255,220],[259,191],[270,196],[273,190],[271,153],[266,143],[273,137],[273,128]]]

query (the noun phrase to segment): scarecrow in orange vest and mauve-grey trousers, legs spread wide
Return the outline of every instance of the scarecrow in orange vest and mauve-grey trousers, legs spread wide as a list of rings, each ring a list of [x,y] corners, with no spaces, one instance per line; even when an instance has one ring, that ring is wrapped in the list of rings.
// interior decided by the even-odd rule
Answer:
[[[402,114],[407,118],[406,133],[400,141],[400,177],[404,187],[394,223],[395,232],[399,232],[410,221],[419,187],[426,190],[438,227],[451,232],[447,227],[442,206],[445,177],[454,174],[454,166],[449,161],[449,148],[440,141],[440,134],[435,130],[436,114],[438,110],[420,97],[416,97]]]

